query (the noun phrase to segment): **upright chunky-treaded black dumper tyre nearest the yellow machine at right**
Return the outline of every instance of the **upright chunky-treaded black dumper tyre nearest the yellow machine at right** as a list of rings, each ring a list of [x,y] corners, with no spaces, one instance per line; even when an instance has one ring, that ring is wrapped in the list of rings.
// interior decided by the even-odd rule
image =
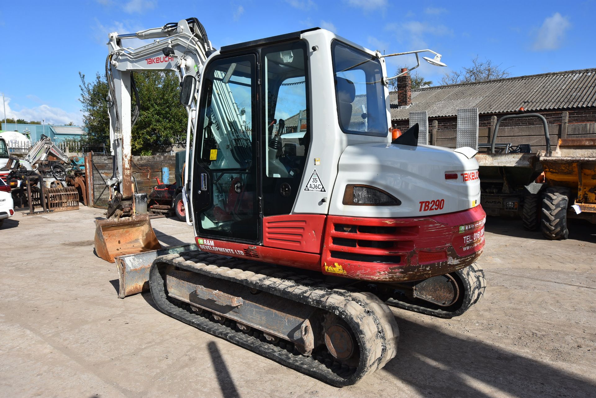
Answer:
[[[567,229],[567,206],[569,198],[565,188],[547,188],[542,199],[542,235],[550,240],[569,237]]]

